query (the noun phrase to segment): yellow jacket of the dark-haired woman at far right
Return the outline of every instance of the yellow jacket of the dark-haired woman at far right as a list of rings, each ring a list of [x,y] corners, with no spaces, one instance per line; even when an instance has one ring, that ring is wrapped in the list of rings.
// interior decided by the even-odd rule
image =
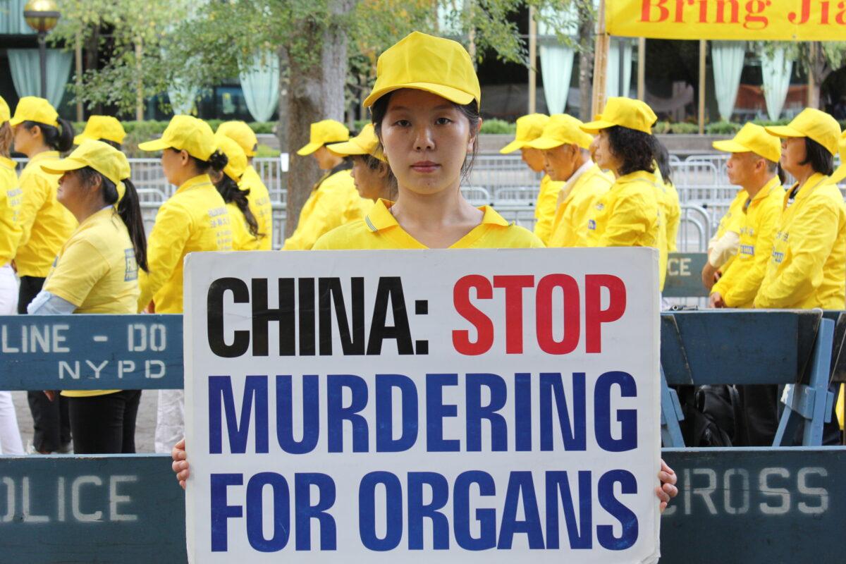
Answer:
[[[755,296],[756,308],[843,309],[846,295],[846,206],[843,194],[814,174],[796,194],[784,194],[772,257]]]

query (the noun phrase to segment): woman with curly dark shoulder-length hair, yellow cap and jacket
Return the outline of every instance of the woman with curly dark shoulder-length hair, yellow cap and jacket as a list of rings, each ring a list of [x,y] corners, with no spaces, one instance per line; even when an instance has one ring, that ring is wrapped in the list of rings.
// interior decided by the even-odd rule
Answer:
[[[654,247],[659,253],[660,286],[667,275],[667,233],[658,200],[655,112],[643,101],[608,98],[602,114],[581,129],[596,134],[596,164],[610,170],[614,183],[594,205],[588,220],[591,247]]]

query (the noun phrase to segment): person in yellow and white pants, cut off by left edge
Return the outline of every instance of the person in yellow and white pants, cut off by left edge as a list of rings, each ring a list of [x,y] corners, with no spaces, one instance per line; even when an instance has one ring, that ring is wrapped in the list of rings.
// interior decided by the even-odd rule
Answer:
[[[14,135],[8,124],[11,117],[0,96],[0,315],[14,315],[18,309],[18,278],[12,259],[20,239],[21,192],[15,163],[9,158]],[[11,392],[0,392],[0,454],[25,454]]]

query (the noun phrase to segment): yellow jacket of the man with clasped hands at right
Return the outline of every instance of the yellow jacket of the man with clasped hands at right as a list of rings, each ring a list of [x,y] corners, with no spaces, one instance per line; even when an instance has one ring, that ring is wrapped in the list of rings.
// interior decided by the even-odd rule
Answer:
[[[776,177],[755,194],[745,211],[741,211],[739,252],[711,288],[711,293],[722,295],[729,308],[751,308],[755,303],[755,294],[761,287],[766,264],[772,255],[783,203],[784,189]]]

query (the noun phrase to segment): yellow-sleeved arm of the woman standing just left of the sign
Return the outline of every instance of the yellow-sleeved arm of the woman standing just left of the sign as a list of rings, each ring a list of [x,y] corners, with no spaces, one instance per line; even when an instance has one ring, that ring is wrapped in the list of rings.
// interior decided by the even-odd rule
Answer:
[[[191,234],[191,216],[179,205],[162,205],[147,243],[147,267],[139,269],[138,311],[144,311],[153,296],[170,280],[182,258]]]

